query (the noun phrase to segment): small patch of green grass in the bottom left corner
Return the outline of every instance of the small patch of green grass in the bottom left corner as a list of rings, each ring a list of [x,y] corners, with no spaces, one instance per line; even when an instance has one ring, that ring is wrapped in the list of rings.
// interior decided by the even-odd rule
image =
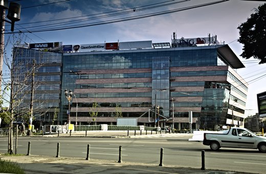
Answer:
[[[0,159],[0,173],[25,174],[24,170],[16,163]]]

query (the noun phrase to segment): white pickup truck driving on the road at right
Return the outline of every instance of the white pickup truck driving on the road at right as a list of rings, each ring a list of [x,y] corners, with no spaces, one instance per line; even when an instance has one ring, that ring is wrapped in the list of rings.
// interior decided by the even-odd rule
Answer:
[[[245,128],[230,128],[223,134],[204,133],[204,145],[209,145],[211,150],[220,147],[258,148],[260,152],[266,152],[266,137],[257,136]]]

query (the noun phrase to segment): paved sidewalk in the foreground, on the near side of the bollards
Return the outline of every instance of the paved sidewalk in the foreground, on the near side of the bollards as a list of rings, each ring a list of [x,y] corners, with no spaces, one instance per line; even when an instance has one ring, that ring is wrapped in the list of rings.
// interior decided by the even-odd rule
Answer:
[[[201,170],[178,166],[159,166],[104,160],[85,160],[84,158],[44,157],[44,156],[0,156],[2,159],[17,162],[28,174],[33,173],[243,173],[221,170]]]

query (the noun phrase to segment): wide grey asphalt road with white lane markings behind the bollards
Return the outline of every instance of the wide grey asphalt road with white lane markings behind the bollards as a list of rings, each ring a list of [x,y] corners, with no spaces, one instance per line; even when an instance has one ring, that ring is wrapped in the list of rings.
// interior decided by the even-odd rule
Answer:
[[[163,148],[163,164],[201,168],[204,150],[206,168],[265,172],[265,153],[240,148],[221,148],[213,152],[202,142],[191,142],[188,138],[170,135],[152,138],[19,137],[17,153],[27,154],[30,141],[30,154],[55,157],[60,142],[60,156],[86,158],[87,144],[90,144],[91,159],[118,161],[119,146],[122,146],[122,161],[159,165]],[[0,152],[6,153],[6,149],[7,138],[1,137]]]

